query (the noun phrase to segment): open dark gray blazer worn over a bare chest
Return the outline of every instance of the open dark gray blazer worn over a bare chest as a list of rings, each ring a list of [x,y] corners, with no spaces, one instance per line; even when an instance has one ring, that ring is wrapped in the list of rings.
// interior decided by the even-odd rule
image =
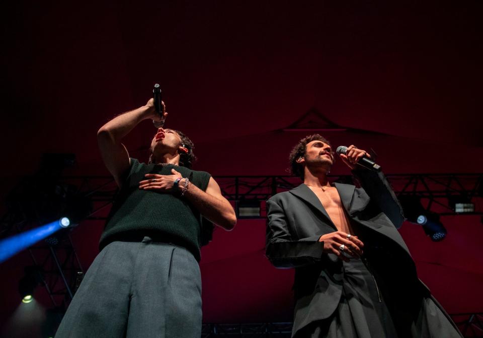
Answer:
[[[403,211],[381,172],[357,169],[353,174],[361,188],[335,183],[342,205],[354,228],[373,239],[375,260],[395,266],[408,289],[426,289],[417,278],[416,266],[399,228]],[[341,294],[343,263],[323,252],[321,235],[337,231],[317,196],[306,186],[278,193],[267,201],[266,255],[278,268],[295,268],[295,313],[292,336],[312,321],[325,319],[336,310]],[[380,259],[379,259],[380,258]],[[408,285],[408,283],[410,285]],[[429,293],[429,292],[428,292]]]

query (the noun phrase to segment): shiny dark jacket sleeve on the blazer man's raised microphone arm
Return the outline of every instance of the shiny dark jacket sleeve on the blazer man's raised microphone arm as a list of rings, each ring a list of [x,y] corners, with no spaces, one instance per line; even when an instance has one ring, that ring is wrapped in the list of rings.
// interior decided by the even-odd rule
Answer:
[[[352,173],[359,180],[371,200],[376,203],[396,228],[400,228],[405,221],[403,208],[399,204],[386,176],[381,171],[368,169],[354,169]]]

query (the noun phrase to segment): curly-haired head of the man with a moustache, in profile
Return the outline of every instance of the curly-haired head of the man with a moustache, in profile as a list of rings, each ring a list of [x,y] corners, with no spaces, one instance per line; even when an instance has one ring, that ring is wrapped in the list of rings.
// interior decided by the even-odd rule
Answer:
[[[303,180],[305,166],[324,166],[329,171],[334,164],[334,152],[326,138],[312,134],[301,139],[292,148],[289,161],[292,174]]]

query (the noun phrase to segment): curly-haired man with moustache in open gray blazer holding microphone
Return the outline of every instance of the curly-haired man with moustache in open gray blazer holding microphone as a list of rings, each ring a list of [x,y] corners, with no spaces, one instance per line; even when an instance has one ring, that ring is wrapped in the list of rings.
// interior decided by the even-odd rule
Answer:
[[[290,154],[298,187],[267,201],[266,254],[295,268],[293,337],[460,337],[418,279],[399,228],[404,215],[381,172],[341,154],[360,188],[330,183],[329,141],[307,136]]]

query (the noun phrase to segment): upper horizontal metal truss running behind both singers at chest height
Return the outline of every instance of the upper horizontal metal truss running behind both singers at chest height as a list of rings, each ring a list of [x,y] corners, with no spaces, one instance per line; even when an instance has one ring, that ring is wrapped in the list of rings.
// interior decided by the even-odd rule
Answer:
[[[386,175],[397,196],[415,195],[425,201],[428,210],[439,208],[440,215],[456,215],[449,197],[460,197],[474,202],[483,198],[483,173],[478,174],[389,174]],[[231,201],[265,201],[274,194],[298,186],[300,179],[293,176],[216,176],[222,194]],[[329,176],[332,182],[357,184],[350,175]],[[75,184],[79,192],[92,198],[94,211],[89,219],[105,219],[99,216],[115,197],[117,186],[109,176],[63,177],[65,183]],[[473,215],[483,215],[475,210]]]

